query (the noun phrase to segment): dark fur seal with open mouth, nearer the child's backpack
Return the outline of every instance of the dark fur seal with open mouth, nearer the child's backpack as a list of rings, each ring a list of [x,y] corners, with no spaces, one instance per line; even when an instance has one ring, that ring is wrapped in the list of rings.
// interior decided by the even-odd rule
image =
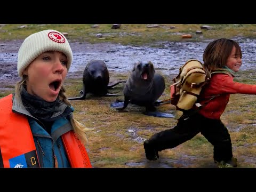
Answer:
[[[164,89],[164,78],[155,74],[153,63],[151,61],[139,61],[134,64],[129,79],[125,83],[122,108],[119,106],[115,108],[122,110],[129,103],[132,103],[146,107],[146,113],[156,111],[154,103],[161,97]]]

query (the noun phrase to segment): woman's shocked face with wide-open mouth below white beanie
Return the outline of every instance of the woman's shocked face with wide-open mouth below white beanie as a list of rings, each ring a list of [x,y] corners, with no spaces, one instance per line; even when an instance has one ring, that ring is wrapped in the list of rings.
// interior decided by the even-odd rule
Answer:
[[[55,101],[67,76],[67,57],[58,51],[47,51],[39,55],[25,69],[28,75],[27,91],[45,101]]]

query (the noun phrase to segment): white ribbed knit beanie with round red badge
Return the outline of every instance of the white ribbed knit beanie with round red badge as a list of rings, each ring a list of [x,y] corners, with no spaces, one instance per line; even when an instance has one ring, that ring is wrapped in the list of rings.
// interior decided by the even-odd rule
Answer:
[[[46,51],[59,51],[66,54],[69,70],[73,53],[67,38],[59,31],[49,29],[32,34],[24,40],[18,52],[18,75],[21,77],[26,67]]]

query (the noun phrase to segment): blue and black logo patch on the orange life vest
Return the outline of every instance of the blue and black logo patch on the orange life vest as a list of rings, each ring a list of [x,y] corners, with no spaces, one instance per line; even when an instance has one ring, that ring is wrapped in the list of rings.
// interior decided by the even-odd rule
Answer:
[[[36,150],[9,159],[11,168],[36,168],[39,167]]]

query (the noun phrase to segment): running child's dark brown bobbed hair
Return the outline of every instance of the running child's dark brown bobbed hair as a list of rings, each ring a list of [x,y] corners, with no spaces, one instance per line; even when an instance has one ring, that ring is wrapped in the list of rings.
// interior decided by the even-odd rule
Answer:
[[[233,46],[236,47],[236,55],[242,58],[241,47],[231,39],[220,38],[209,43],[203,54],[205,69],[211,71],[225,66]]]

